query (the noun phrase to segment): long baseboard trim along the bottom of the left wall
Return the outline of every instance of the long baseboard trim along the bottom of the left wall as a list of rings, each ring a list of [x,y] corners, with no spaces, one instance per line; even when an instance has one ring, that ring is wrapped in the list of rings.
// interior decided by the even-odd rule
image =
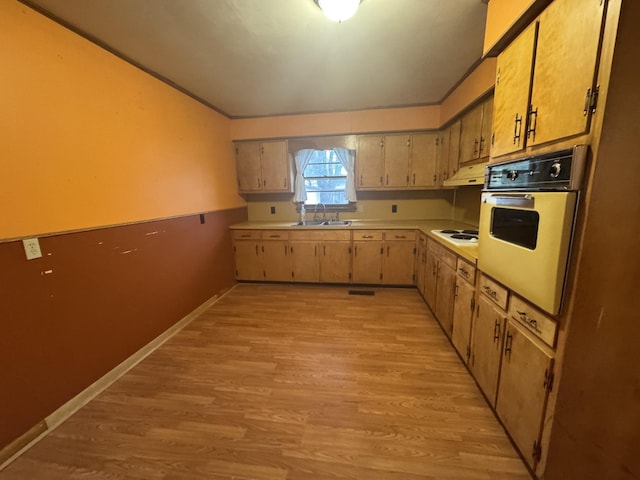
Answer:
[[[237,285],[237,284],[236,284]],[[163,333],[158,335],[156,338],[151,340],[148,344],[142,347],[140,350],[135,352],[129,358],[124,360],[122,363],[114,367],[112,370],[107,372],[105,375],[100,377],[94,383],[85,388],[78,395],[73,397],[67,403],[62,405],[56,411],[54,411],[51,415],[46,417],[44,420],[41,420],[36,425],[31,427],[24,434],[16,438],[9,445],[0,450],[0,472],[8,467],[13,461],[15,461],[20,455],[33,447],[36,443],[38,443],[42,438],[47,436],[51,431],[57,428],[60,424],[62,424],[65,420],[67,420],[71,415],[76,413],[82,407],[84,407],[87,403],[93,400],[98,394],[108,388],[111,384],[113,384],[116,380],[122,377],[125,373],[135,367],[138,363],[144,360],[147,356],[161,347],[165,342],[167,342],[171,337],[173,337],[176,333],[182,330],[184,327],[189,325],[193,320],[202,315],[205,311],[207,311],[213,304],[218,302],[221,298],[223,298],[227,293],[235,288],[235,286],[223,290],[218,294],[214,295],[207,301],[205,301],[202,305],[197,307],[194,311],[183,317],[181,320],[176,322],[172,327],[165,330]]]

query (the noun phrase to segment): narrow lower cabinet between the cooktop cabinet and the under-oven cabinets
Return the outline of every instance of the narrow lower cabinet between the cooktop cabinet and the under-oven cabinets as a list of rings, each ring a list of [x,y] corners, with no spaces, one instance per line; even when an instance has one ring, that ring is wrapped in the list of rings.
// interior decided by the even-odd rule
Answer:
[[[465,363],[471,354],[471,322],[475,310],[475,265],[458,258],[451,343]]]

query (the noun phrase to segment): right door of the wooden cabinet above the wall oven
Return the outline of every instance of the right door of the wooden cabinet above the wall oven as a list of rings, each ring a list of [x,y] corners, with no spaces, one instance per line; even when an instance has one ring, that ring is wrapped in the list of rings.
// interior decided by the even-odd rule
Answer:
[[[556,0],[540,15],[529,145],[588,131],[585,98],[596,78],[604,3]]]

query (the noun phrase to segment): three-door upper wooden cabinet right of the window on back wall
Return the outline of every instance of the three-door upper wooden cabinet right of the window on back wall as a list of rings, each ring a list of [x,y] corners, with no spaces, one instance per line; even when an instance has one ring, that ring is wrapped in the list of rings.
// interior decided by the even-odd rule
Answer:
[[[437,132],[361,135],[356,155],[358,190],[436,186]]]

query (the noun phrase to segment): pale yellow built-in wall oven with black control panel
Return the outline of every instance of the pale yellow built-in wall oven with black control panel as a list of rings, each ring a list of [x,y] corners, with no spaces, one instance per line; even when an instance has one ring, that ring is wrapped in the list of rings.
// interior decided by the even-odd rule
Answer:
[[[562,305],[587,146],[489,165],[478,267],[546,312]]]

